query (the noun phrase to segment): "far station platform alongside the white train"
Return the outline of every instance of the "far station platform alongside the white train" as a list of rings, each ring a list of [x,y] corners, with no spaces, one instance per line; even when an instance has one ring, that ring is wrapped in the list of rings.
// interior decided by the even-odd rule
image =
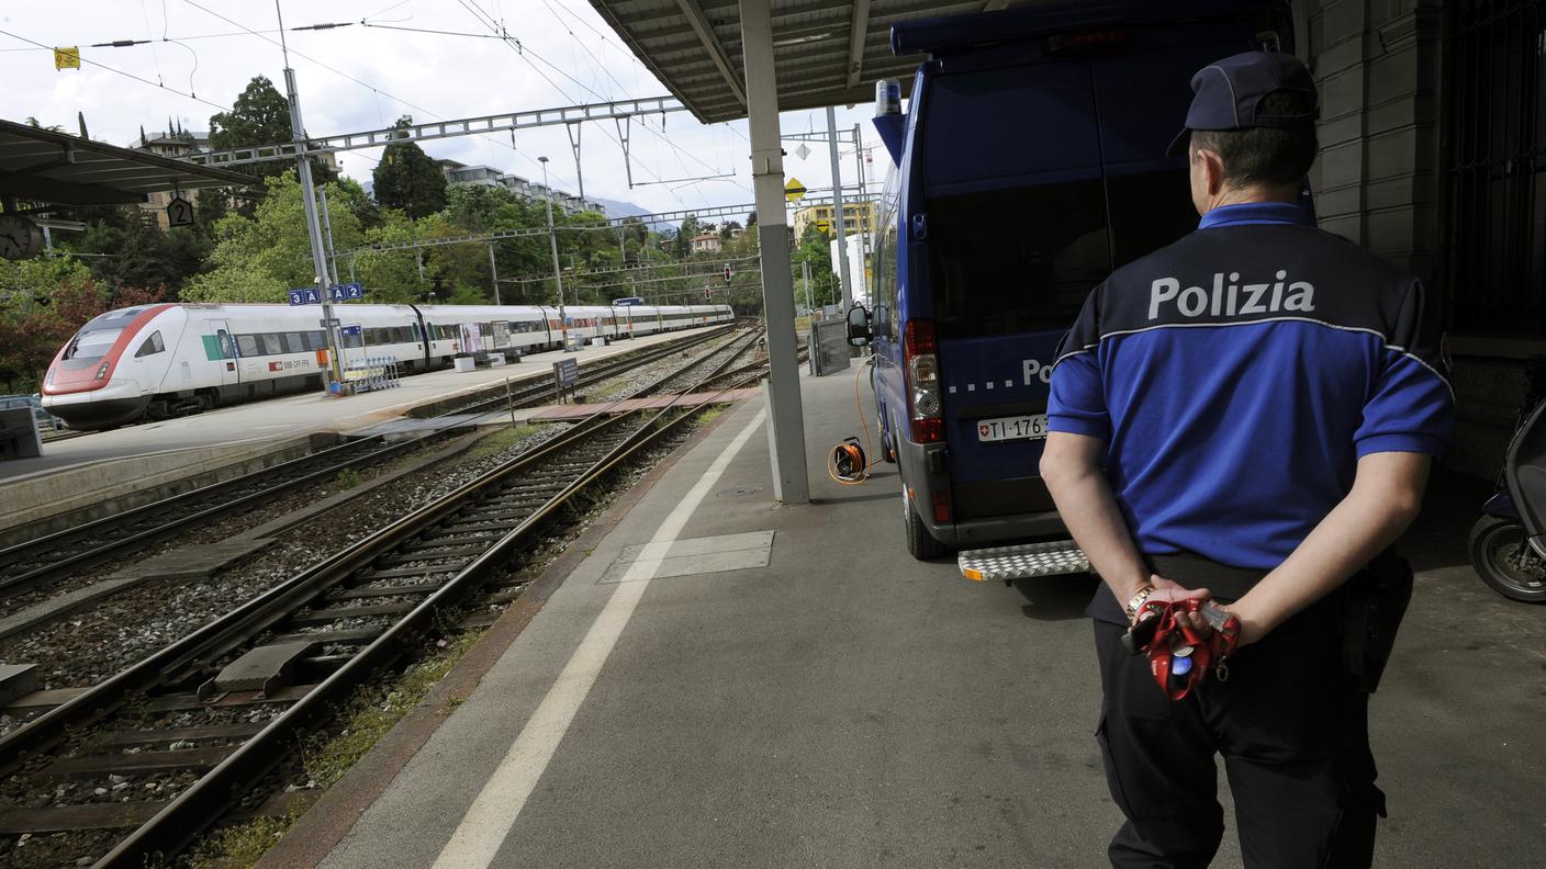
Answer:
[[[563,357],[584,365],[683,334],[691,332],[643,336],[570,354],[529,354],[499,368],[413,374],[404,377],[400,387],[356,396],[301,393],[48,441],[39,458],[0,462],[0,498],[6,504],[0,530],[223,467],[232,469],[230,476],[257,470],[263,467],[258,462],[272,464],[311,452],[317,436],[356,433],[399,419],[414,407],[485,390],[507,377],[512,382],[552,377],[552,363]]]

